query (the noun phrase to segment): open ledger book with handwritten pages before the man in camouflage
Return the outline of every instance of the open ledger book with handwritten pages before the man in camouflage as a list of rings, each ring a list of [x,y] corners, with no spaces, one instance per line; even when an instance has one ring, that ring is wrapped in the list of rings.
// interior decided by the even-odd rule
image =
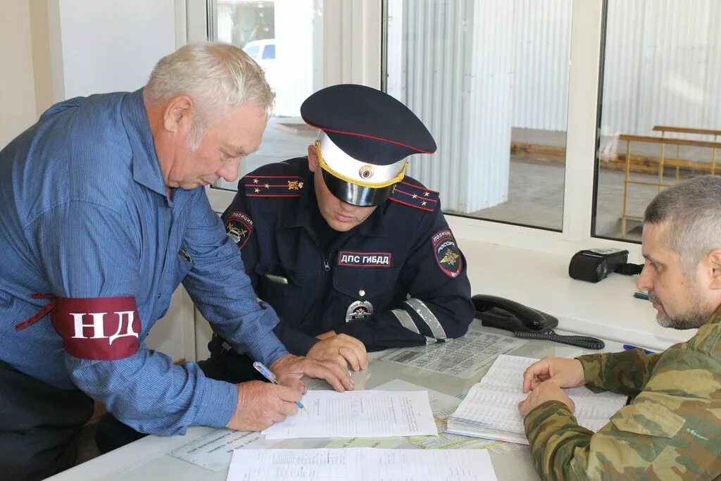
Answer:
[[[538,359],[499,356],[448,418],[446,432],[528,444],[518,403],[528,396],[523,394],[523,371],[536,361]],[[608,423],[627,400],[626,396],[612,392],[594,394],[585,387],[565,389],[565,392],[576,405],[574,415],[578,423],[591,431],[598,431]]]

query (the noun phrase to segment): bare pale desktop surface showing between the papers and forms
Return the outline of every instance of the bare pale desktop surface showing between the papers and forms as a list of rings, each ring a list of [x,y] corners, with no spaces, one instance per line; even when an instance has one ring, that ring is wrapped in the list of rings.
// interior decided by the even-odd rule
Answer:
[[[491,330],[507,334],[506,331]],[[621,345],[609,342],[606,350],[621,350]],[[456,395],[468,389],[476,383],[479,378],[461,379],[455,376],[433,373],[424,369],[415,369],[402,366],[397,363],[380,361],[379,357],[384,353],[374,353],[371,356],[371,363],[368,370],[353,374],[356,387],[365,384],[365,389],[373,389],[392,381],[403,379],[428,389]],[[549,343],[547,341],[529,340],[526,345],[512,351],[518,356],[529,356],[540,358],[543,356],[578,356],[588,353],[580,348],[572,346]],[[594,351],[598,352],[598,351]],[[89,462],[68,469],[50,479],[55,481],[78,481],[78,480],[225,480],[227,467],[218,472],[213,472],[195,464],[182,461],[169,452],[184,446],[198,436],[213,431],[211,428],[190,428],[185,436],[174,436],[170,438],[159,438],[148,436],[128,446],[112,451],[104,456],[92,459]],[[326,446],[329,439],[301,439],[276,441],[278,447],[284,448],[313,448]],[[414,448],[412,444],[404,444],[399,447]],[[492,455],[492,463],[499,480],[537,480],[538,477],[531,465],[531,457],[528,449],[512,451],[503,454]]]

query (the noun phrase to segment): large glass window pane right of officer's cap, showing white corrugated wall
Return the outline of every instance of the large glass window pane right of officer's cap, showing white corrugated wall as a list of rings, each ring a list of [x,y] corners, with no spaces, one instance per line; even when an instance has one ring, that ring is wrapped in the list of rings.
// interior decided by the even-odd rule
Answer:
[[[386,91],[438,151],[444,211],[562,229],[571,0],[388,0]]]

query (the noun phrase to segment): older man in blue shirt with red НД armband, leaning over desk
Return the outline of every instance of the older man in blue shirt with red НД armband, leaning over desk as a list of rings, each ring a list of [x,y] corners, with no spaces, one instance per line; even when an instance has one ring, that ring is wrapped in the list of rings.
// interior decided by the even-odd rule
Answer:
[[[39,479],[74,463],[92,400],[144,433],[258,430],[296,412],[317,376],[257,301],[203,186],[235,180],[273,94],[231,45],[187,45],[132,93],[54,105],[0,151],[0,468]],[[213,330],[282,387],[229,384],[144,340],[182,283]],[[167,322],[167,321],[166,321]]]

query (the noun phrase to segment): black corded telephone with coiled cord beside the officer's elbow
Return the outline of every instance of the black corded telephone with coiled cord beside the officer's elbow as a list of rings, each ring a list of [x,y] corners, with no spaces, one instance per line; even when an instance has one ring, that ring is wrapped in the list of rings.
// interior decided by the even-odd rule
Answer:
[[[552,340],[586,349],[603,349],[605,346],[596,337],[556,334],[553,328],[558,326],[558,319],[516,301],[487,294],[476,294],[471,299],[476,317],[484,326],[509,330],[524,339]]]

